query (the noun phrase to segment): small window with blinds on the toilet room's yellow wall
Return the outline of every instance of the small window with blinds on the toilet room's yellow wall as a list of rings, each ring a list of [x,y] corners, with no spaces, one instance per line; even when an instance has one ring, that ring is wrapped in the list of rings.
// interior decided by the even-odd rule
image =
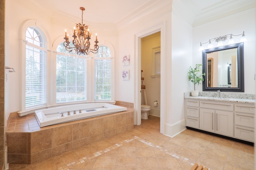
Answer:
[[[158,77],[160,76],[161,70],[160,70],[160,47],[155,47],[152,49],[152,71],[151,71],[151,77]]]

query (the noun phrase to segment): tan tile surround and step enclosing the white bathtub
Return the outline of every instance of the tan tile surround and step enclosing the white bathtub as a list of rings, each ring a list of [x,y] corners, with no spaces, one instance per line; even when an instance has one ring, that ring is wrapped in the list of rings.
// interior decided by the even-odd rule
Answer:
[[[134,109],[39,127],[34,114],[11,114],[6,131],[8,163],[41,162],[134,128]]]

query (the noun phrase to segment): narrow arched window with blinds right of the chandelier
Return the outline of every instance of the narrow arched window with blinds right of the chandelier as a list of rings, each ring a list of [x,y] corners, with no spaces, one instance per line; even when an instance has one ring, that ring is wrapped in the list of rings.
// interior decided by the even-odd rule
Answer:
[[[106,46],[99,47],[95,55],[95,97],[94,100],[111,100],[111,51]]]

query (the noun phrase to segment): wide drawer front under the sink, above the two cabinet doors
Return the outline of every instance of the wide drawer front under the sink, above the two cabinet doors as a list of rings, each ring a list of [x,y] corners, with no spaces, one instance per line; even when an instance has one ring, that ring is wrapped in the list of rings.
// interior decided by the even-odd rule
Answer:
[[[200,102],[200,107],[205,107],[208,109],[220,109],[220,110],[233,111],[234,105],[226,104],[226,103]]]

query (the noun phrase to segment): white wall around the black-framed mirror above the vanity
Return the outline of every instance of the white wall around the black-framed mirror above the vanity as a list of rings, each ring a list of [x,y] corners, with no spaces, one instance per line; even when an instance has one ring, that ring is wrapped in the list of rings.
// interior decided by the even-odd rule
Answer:
[[[193,65],[202,63],[202,52],[200,42],[207,42],[209,39],[227,34],[238,35],[245,32],[248,41],[244,42],[244,93],[255,94],[254,74],[256,74],[256,35],[255,35],[255,9],[223,18],[205,25],[193,28]],[[235,43],[240,42],[240,36],[233,37]],[[227,43],[227,41],[226,41]],[[225,45],[225,44],[224,44]],[[208,45],[205,45],[205,49]],[[198,88],[202,91],[202,84]]]

